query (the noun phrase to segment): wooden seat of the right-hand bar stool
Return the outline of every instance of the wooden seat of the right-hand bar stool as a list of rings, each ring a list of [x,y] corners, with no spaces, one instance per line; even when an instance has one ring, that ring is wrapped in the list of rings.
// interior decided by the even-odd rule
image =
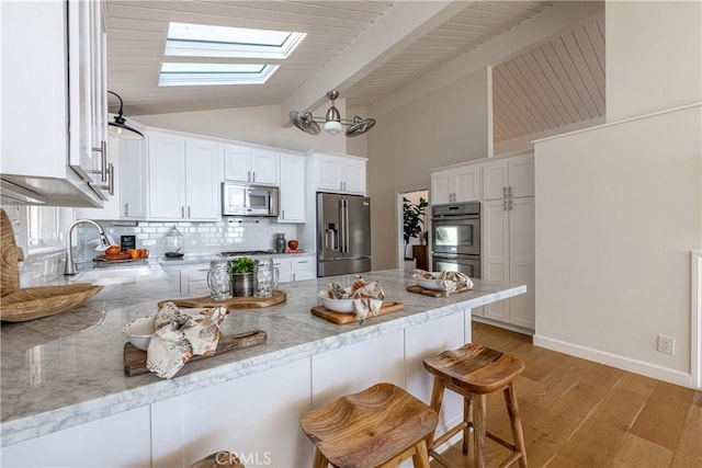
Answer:
[[[428,357],[423,365],[431,374],[472,393],[501,390],[524,370],[524,362],[519,357],[475,343]]]

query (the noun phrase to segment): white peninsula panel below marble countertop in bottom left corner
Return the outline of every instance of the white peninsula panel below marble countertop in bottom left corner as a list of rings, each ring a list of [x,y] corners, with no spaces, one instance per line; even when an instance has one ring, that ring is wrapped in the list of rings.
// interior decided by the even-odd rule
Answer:
[[[141,407],[2,447],[3,467],[149,467],[151,423]]]

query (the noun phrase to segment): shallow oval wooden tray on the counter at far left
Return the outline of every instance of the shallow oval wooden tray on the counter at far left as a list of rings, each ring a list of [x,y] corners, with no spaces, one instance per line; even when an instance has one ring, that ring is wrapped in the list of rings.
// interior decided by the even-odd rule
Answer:
[[[24,287],[2,296],[0,320],[23,322],[55,316],[83,304],[102,289],[90,283]]]

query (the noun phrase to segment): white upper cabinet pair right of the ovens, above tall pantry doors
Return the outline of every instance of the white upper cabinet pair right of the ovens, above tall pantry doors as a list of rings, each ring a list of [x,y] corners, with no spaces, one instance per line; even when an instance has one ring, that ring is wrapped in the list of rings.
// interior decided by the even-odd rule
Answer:
[[[520,155],[483,164],[483,198],[534,195],[534,155]]]

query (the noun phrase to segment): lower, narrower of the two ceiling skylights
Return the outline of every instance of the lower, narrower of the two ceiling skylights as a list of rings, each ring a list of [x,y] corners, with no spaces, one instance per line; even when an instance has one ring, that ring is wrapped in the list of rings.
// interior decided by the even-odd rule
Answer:
[[[161,64],[159,87],[261,84],[278,65],[261,64]]]

